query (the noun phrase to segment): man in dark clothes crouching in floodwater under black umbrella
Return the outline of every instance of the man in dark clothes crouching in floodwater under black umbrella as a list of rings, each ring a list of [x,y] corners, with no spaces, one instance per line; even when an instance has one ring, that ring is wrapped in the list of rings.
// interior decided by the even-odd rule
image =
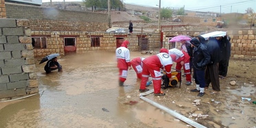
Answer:
[[[56,69],[58,69],[58,72],[62,72],[62,66],[57,61],[57,57],[47,61],[46,65],[44,66],[46,74],[51,73],[51,71]]]

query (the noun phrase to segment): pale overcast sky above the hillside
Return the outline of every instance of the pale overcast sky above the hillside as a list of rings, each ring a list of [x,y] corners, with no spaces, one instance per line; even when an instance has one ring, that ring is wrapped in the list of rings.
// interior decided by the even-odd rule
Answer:
[[[50,2],[50,0],[42,0],[43,2]],[[53,2],[62,2],[63,0],[52,0]],[[82,1],[82,0],[65,0],[69,1]],[[125,3],[135,3],[147,6],[158,7],[159,0],[123,0]],[[185,5],[185,10],[192,11],[211,11],[230,13],[238,12],[245,13],[249,7],[256,11],[256,0],[161,0],[162,7],[180,8]],[[232,9],[231,9],[232,6]]]

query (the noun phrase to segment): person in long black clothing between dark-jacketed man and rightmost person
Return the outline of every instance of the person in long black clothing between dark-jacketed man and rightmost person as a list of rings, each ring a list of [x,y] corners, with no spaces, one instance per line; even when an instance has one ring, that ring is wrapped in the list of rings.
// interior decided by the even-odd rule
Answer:
[[[205,87],[209,87],[212,84],[214,91],[220,91],[219,80],[219,62],[221,60],[220,40],[222,37],[210,37],[207,46],[207,51],[211,56],[210,63],[206,67],[205,71]]]

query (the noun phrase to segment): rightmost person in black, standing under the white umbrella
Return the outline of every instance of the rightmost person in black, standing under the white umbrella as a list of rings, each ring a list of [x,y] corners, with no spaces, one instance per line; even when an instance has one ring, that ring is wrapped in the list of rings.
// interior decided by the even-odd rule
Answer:
[[[227,67],[229,66],[229,58],[231,55],[230,37],[224,37],[221,40],[221,61],[219,62],[219,77],[225,79],[227,75]]]

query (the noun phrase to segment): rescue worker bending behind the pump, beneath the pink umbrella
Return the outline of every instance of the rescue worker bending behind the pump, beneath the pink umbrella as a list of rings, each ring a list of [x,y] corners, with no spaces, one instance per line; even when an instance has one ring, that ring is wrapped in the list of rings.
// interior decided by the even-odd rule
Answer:
[[[186,85],[191,85],[191,74],[190,74],[190,66],[189,66],[189,62],[190,62],[190,56],[188,55],[188,53],[184,52],[184,51],[180,51],[177,48],[172,48],[172,49],[165,49],[165,48],[161,48],[160,49],[160,53],[168,53],[171,56],[172,61],[176,62],[176,71],[180,71],[182,66],[183,66],[183,70],[185,72],[186,75]],[[177,74],[177,78],[180,81],[180,75],[181,73]]]

